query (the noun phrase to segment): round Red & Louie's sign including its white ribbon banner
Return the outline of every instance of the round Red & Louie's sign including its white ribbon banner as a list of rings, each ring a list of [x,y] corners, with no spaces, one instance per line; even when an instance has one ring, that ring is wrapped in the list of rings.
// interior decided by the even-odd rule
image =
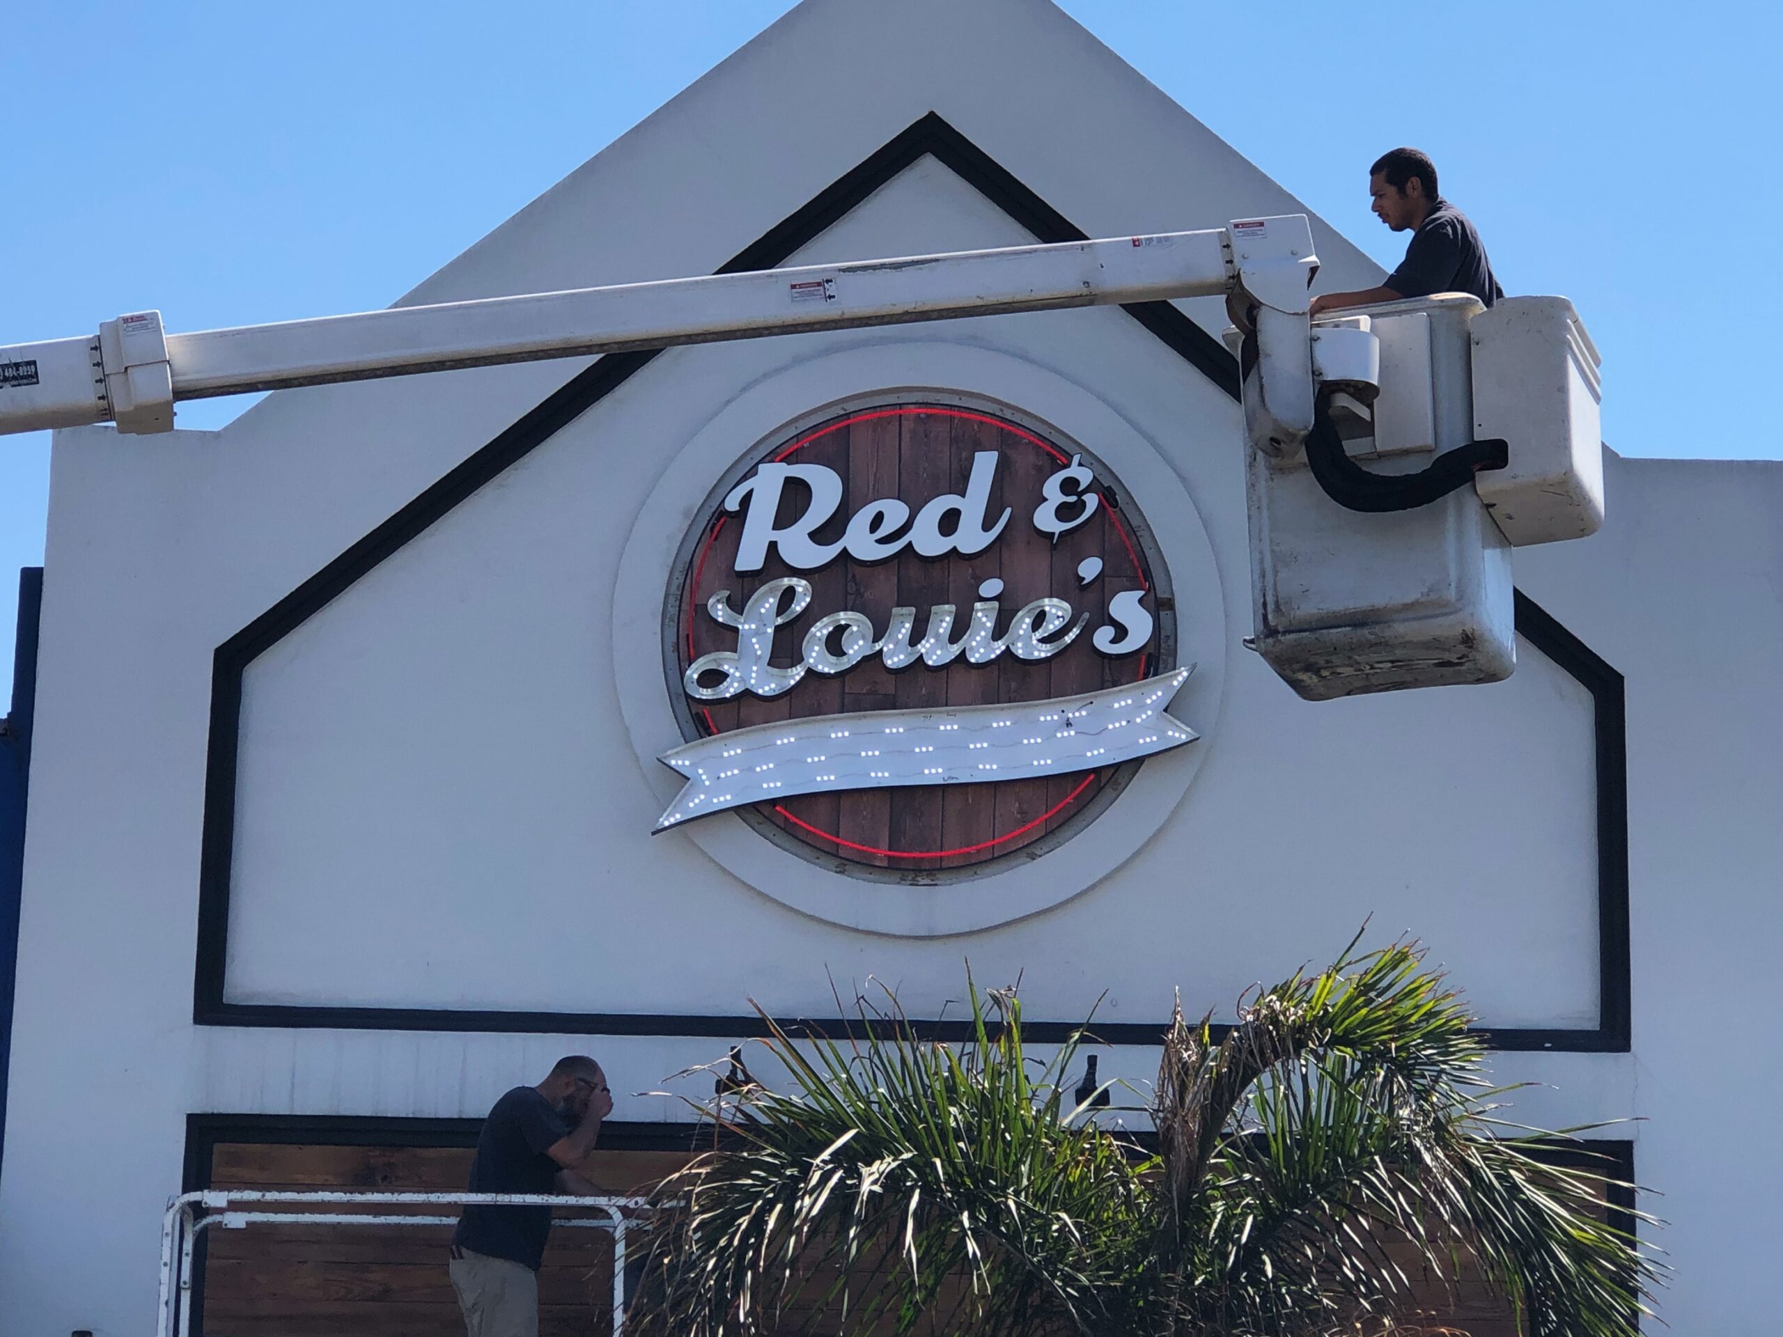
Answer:
[[[681,545],[688,743],[661,827],[738,809],[874,877],[1072,838],[1193,742],[1164,563],[1091,451],[1007,412],[865,403],[783,431]]]

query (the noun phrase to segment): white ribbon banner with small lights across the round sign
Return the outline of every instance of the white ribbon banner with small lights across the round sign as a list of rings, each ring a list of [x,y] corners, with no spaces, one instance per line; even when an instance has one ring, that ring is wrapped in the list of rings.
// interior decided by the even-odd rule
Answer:
[[[1164,713],[1195,665],[1079,697],[950,710],[813,715],[663,752],[686,786],[656,831],[797,793],[990,784],[1097,770],[1195,742]]]

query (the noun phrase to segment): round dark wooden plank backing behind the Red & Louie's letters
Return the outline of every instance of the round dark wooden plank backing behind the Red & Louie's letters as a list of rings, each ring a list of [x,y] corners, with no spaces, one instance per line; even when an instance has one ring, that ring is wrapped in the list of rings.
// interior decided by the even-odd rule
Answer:
[[[913,606],[913,635],[920,638],[929,610],[954,604],[952,636],[957,640],[986,579],[1004,583],[998,635],[1007,629],[1015,610],[1034,599],[1057,597],[1072,604],[1073,622],[1089,613],[1077,640],[1041,661],[1002,654],[991,663],[974,665],[961,656],[943,668],[918,661],[893,674],[877,656],[868,656],[836,677],[806,674],[790,692],[772,699],[749,693],[710,704],[690,699],[701,734],[813,715],[1043,701],[1118,686],[1170,667],[1159,663],[1159,633],[1145,647],[1120,658],[1107,658],[1091,645],[1095,629],[1107,622],[1114,594],[1154,590],[1145,531],[1134,524],[1132,499],[1100,467],[1093,487],[1100,504],[1084,524],[1063,537],[1036,529],[1032,515],[1043,501],[1041,488],[1048,476],[1070,465],[1072,453],[1032,430],[981,410],[883,405],[799,433],[761,458],[836,471],[843,483],[842,506],[813,533],[817,542],[831,544],[842,538],[849,515],[870,501],[897,497],[915,513],[933,497],[963,494],[974,455],[981,451],[998,456],[990,513],[995,517],[1007,506],[1011,515],[998,538],[970,558],[949,554],[927,560],[906,549],[879,563],[843,554],[820,570],[793,570],[772,549],[761,570],[738,574],[735,560],[742,524],[722,512],[720,499],[713,513],[701,519],[690,549],[676,626],[678,668],[685,674],[703,654],[736,649],[736,633],[706,611],[706,601],[715,592],[729,590],[731,606],[740,608],[751,592],[779,576],[801,576],[813,586],[804,613],[776,633],[772,663],[779,667],[799,661],[799,647],[813,622],[843,610],[865,613],[875,635],[884,635],[892,610]],[[797,519],[802,504],[802,488],[788,488],[777,524]],[[1086,558],[1102,562],[1102,572],[1088,586],[1079,579],[1079,563]],[[1148,610],[1163,627],[1155,599],[1148,599]],[[679,692],[679,683],[670,690]],[[847,863],[931,872],[968,868],[1032,845],[1079,818],[1109,779],[1105,770],[993,784],[808,793],[760,804],[758,811],[793,840]]]

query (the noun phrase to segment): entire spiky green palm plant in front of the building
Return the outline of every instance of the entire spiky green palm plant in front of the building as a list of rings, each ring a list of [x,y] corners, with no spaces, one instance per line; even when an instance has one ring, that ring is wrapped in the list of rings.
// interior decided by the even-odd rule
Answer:
[[[842,1039],[768,1021],[788,1087],[708,1107],[722,1137],[661,1189],[638,1328],[1437,1332],[1414,1282],[1464,1269],[1530,1337],[1631,1337],[1647,1312],[1658,1264],[1605,1223],[1608,1166],[1500,1121],[1471,1018],[1416,943],[1352,943],[1220,1039],[1179,1007],[1148,1150],[1064,1095],[1088,1032],[1032,1059],[1015,991],[968,991],[959,1045],[922,1039],[890,993]]]

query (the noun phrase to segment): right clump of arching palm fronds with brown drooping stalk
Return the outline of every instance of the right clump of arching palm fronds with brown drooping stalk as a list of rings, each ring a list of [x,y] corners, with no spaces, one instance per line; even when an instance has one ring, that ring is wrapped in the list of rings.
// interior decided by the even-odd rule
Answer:
[[[1557,1168],[1551,1136],[1494,1136],[1469,1023],[1394,943],[1261,991],[1218,1046],[1175,1036],[1166,1064],[1196,1070],[1159,1084],[1161,1132],[1180,1130],[1159,1216],[1186,1321],[1350,1332],[1471,1266],[1532,1337],[1635,1332],[1658,1269],[1605,1223],[1614,1184]]]

